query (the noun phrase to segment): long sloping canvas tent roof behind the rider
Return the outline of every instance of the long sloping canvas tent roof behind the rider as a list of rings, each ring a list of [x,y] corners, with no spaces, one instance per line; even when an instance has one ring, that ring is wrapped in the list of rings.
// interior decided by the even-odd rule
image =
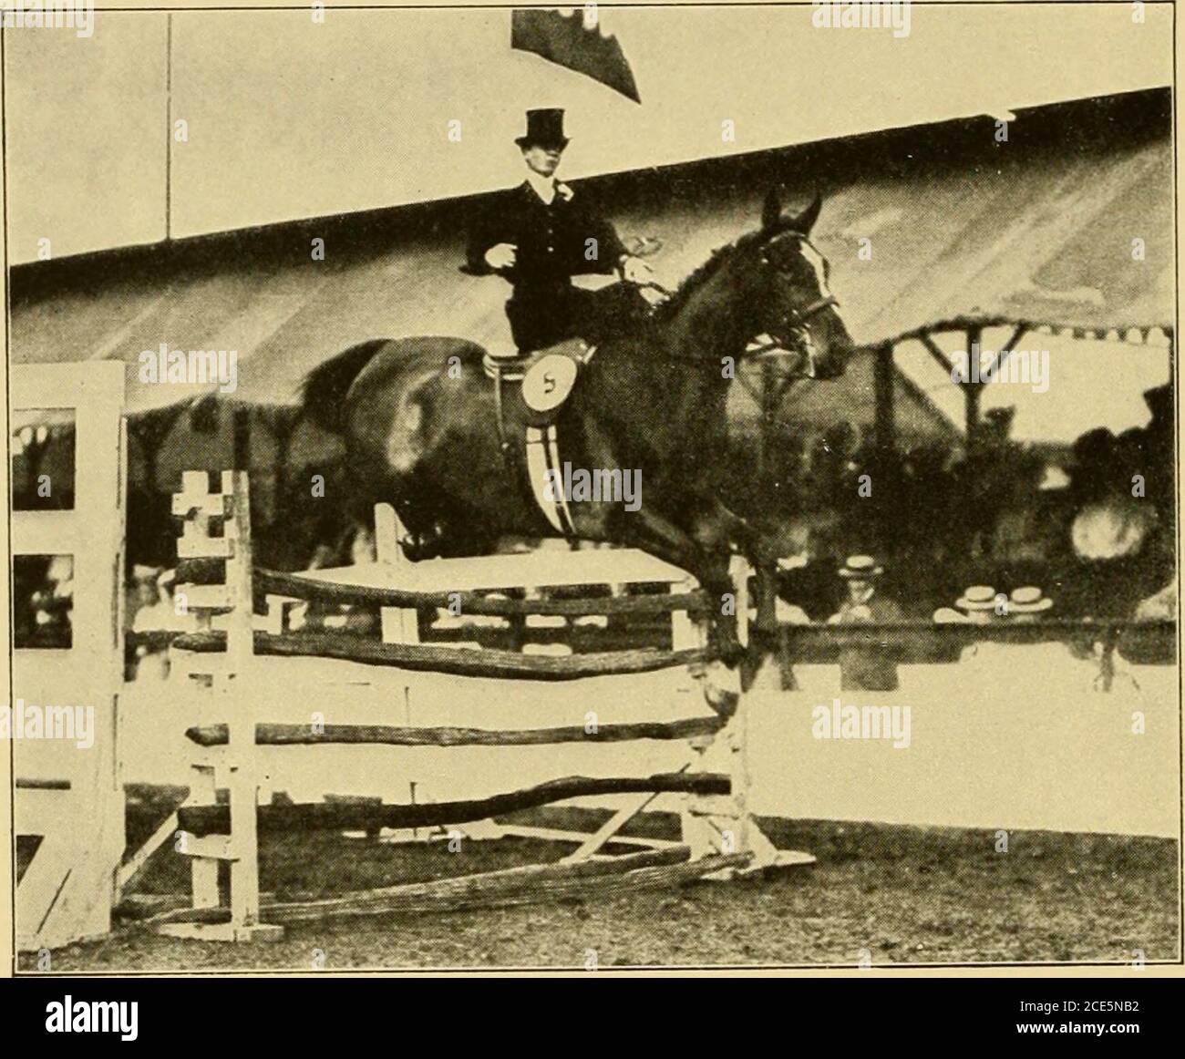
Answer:
[[[991,118],[961,120],[617,174],[589,193],[623,232],[664,238],[656,268],[673,282],[754,226],[771,181],[790,200],[830,188],[815,242],[859,342],[961,314],[1168,326],[1170,122],[1168,92],[1154,90],[1023,111],[1007,143]],[[457,271],[462,217],[456,203],[431,204],[21,267],[12,357],[121,359],[137,411],[213,389],[140,383],[141,352],[161,342],[237,349],[233,396],[258,403],[292,400],[308,370],[376,335],[505,346],[505,283]]]

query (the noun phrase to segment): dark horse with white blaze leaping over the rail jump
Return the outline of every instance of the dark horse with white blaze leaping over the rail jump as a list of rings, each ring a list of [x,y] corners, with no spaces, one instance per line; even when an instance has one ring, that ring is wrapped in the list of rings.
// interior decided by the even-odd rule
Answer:
[[[811,243],[821,195],[787,216],[776,188],[761,226],[717,249],[628,333],[608,338],[558,411],[572,468],[633,471],[640,503],[572,502],[581,539],[638,547],[679,566],[710,598],[731,601],[734,551],[758,570],[761,534],[725,503],[743,466],[726,466],[725,400],[739,364],[776,358],[808,378],[843,373],[852,340]],[[392,502],[418,551],[489,553],[499,538],[558,535],[500,438],[485,349],[466,339],[373,339],[314,368],[303,413],[345,438],[356,513]],[[741,656],[713,622],[717,652]]]

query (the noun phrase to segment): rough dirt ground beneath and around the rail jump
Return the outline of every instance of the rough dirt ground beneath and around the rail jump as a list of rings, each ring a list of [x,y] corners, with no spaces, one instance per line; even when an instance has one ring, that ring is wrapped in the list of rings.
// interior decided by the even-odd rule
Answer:
[[[998,853],[988,830],[824,821],[764,826],[779,847],[807,849],[818,864],[731,884],[627,892],[595,904],[301,925],[267,944],[184,942],[123,924],[101,942],[53,952],[47,969],[852,967],[861,958],[1127,963],[1136,950],[1148,962],[1180,958],[1173,841],[1014,832],[1008,852]],[[392,847],[338,834],[283,836],[262,847],[261,885],[281,899],[329,896],[552,860],[568,848],[505,839],[462,843],[460,853],[449,853],[444,843]],[[133,887],[141,900],[184,892],[180,861],[161,851]],[[23,957],[20,967],[36,971],[36,957]]]

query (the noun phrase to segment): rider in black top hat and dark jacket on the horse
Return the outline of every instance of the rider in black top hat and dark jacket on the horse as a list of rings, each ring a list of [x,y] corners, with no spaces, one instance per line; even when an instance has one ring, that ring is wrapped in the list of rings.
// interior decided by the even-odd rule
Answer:
[[[574,287],[572,276],[620,269],[623,280],[638,284],[652,272],[608,220],[556,179],[568,146],[563,110],[529,110],[526,133],[514,142],[526,162],[526,180],[474,218],[466,271],[497,274],[513,284],[506,316],[521,355],[595,330],[607,300]]]

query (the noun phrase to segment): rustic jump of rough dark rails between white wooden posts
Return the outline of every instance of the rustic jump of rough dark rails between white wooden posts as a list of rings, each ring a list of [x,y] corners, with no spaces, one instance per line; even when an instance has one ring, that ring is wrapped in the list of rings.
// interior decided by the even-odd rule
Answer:
[[[709,668],[702,620],[706,597],[687,576],[651,557],[634,552],[570,553],[570,580],[585,586],[608,583],[607,595],[581,598],[544,598],[532,589],[530,571],[539,560],[556,556],[507,556],[483,559],[429,560],[373,569],[315,571],[282,575],[251,566],[250,499],[246,475],[224,471],[222,488],[213,493],[204,473],[188,473],[173,500],[182,519],[178,543],[179,571],[200,575],[201,583],[179,584],[196,628],[173,640],[177,670],[196,678],[199,694],[213,695],[225,720],[191,727],[194,744],[194,782],[188,802],[178,810],[178,826],[187,833],[180,843],[191,858],[193,906],[156,922],[161,932],[218,941],[275,937],[284,924],[353,916],[389,916],[409,911],[498,906],[556,896],[595,896],[622,886],[670,886],[704,875],[732,874],[773,865],[809,862],[806,854],[782,853],[761,834],[747,809],[748,772],[744,756],[742,695],[710,689],[702,675]],[[380,513],[380,512],[379,512]],[[217,528],[222,533],[217,533]],[[396,538],[393,513],[376,520],[380,554]],[[505,560],[505,561],[504,561]],[[619,567],[628,577],[619,575]],[[214,583],[214,573],[223,580]],[[327,580],[327,577],[340,578]],[[515,580],[518,578],[519,580]],[[364,580],[365,579],[365,580]],[[374,582],[379,583],[376,584]],[[738,612],[747,614],[748,572],[737,578]],[[623,591],[636,584],[662,584],[661,595]],[[499,596],[488,592],[501,593]],[[256,628],[255,605],[265,608],[265,628]],[[315,601],[331,605],[374,606],[383,621],[383,642],[341,633],[288,631],[290,604]],[[672,623],[672,649],[627,650],[565,656],[526,654],[501,649],[450,647],[419,642],[419,616],[447,608],[455,615],[481,615],[520,621],[531,615],[566,620],[591,615],[664,615]],[[692,618],[697,618],[693,621]],[[216,625],[216,622],[218,623]],[[258,672],[257,659],[321,657],[380,668],[383,672],[433,673],[450,676],[506,679],[521,692],[529,682],[579,681],[588,678],[632,675],[671,669],[686,680],[688,667],[700,674],[705,714],[674,721],[629,721],[584,726],[489,730],[465,726],[391,724],[277,724],[256,715],[256,698],[238,688],[255,678],[263,683],[274,672]],[[688,683],[687,691],[694,685]],[[293,697],[305,692],[293,688]],[[412,678],[396,678],[392,692],[401,700],[415,691]],[[309,688],[310,701],[318,692]],[[597,692],[604,695],[604,691]],[[392,702],[396,695],[391,697]],[[540,699],[540,712],[547,707]],[[694,701],[691,698],[686,701]],[[207,705],[210,700],[207,699]],[[591,704],[590,704],[591,706]],[[209,715],[211,711],[206,710]],[[710,771],[705,752],[718,737],[726,771]],[[654,776],[569,776],[495,794],[489,797],[425,800],[411,804],[382,804],[359,800],[333,800],[306,804],[260,804],[261,746],[313,747],[324,745],[377,746],[531,746],[561,743],[619,745],[627,740],[684,740],[691,757],[680,771]],[[219,800],[219,789],[229,800]],[[606,856],[604,847],[655,797],[681,798],[683,842],[629,839],[645,852]],[[626,798],[617,813],[592,834],[551,832],[543,828],[495,824],[494,817],[578,797],[616,795]],[[561,839],[577,848],[555,865],[532,865],[507,872],[411,884],[380,891],[347,894],[331,900],[261,904],[258,888],[260,833],[307,829],[351,829],[374,833],[418,828],[461,828],[470,837],[527,834]],[[219,865],[229,862],[229,903],[219,890]]]

